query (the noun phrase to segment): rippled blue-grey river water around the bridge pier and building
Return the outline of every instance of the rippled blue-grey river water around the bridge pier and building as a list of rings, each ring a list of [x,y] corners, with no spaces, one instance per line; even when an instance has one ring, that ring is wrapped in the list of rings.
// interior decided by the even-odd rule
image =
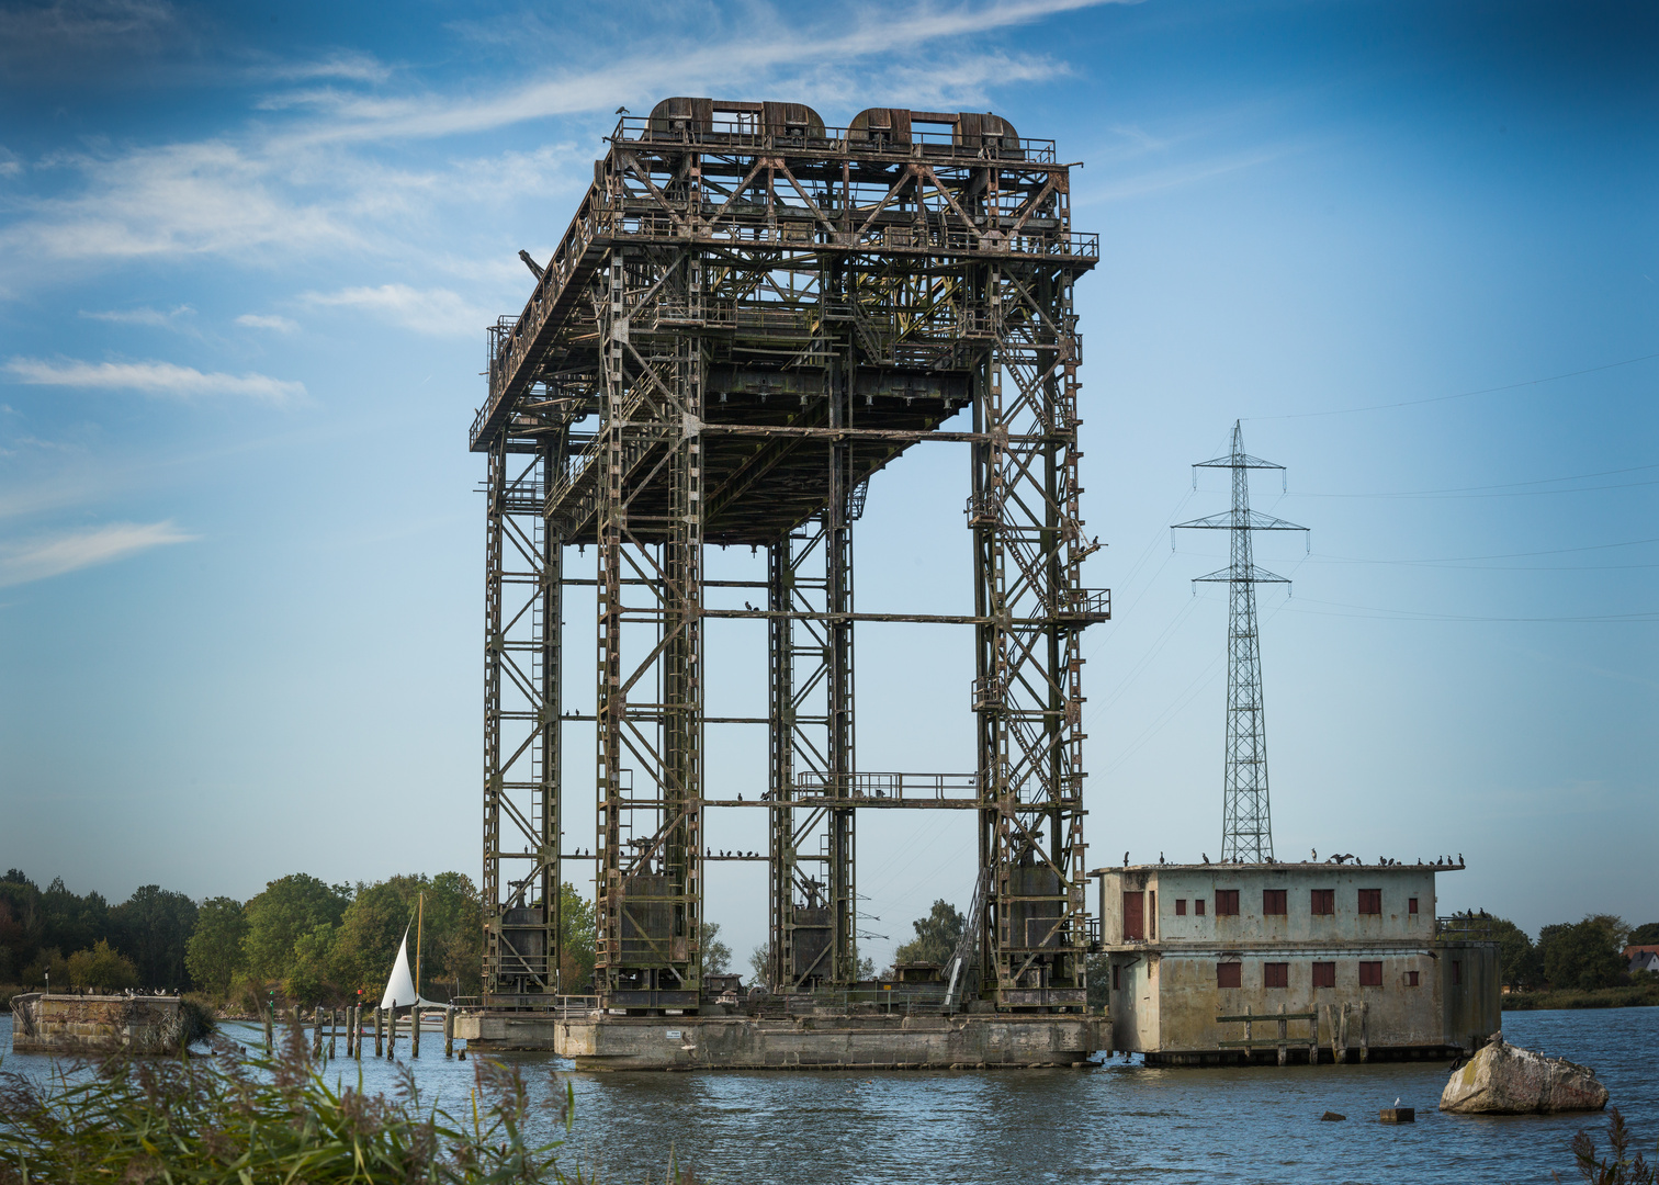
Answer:
[[[1596,1069],[1654,1157],[1659,1144],[1659,1007],[1506,1012],[1510,1044]],[[10,1051],[10,1016],[0,1051]],[[251,1026],[227,1036],[259,1041]],[[343,1049],[343,1044],[342,1044]],[[400,1047],[406,1054],[406,1046]],[[445,1061],[428,1032],[413,1062],[423,1092],[456,1110],[471,1062]],[[1606,1115],[1443,1115],[1448,1064],[937,1074],[574,1074],[551,1056],[511,1057],[544,1100],[547,1132],[564,1082],[576,1090],[567,1165],[607,1185],[660,1182],[670,1153],[698,1180],[730,1185],[932,1182],[1550,1182],[1576,1180],[1568,1142]],[[7,1056],[38,1072],[45,1057]],[[355,1079],[357,1067],[338,1062]],[[368,1057],[365,1085],[392,1067]],[[1377,1110],[1417,1109],[1417,1122]],[[1347,1115],[1329,1124],[1326,1110]],[[1599,1140],[1604,1144],[1604,1139]]]

